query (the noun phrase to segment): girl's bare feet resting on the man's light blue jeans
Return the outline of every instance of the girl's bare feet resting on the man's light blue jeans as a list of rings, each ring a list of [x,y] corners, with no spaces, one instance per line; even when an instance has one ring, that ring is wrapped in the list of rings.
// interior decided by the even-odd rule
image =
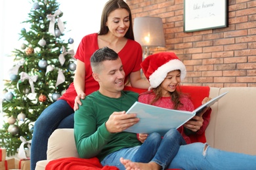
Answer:
[[[161,166],[154,161],[149,163],[133,162],[131,160],[124,160],[120,158],[120,162],[125,166],[126,170],[156,170],[161,169]]]

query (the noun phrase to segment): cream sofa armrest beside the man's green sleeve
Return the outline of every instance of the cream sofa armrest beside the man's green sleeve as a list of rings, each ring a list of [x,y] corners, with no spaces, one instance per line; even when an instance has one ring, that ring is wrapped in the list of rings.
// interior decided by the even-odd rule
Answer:
[[[74,129],[56,129],[48,140],[47,160],[79,157],[75,147]]]

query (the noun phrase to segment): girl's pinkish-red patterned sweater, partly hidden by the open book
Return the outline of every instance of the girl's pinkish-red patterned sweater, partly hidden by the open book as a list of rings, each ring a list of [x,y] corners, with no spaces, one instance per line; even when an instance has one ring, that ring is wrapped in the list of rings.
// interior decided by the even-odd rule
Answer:
[[[150,104],[150,102],[155,97],[156,97],[156,95],[154,95],[154,93],[142,93],[139,96],[139,102]],[[194,105],[193,105],[192,101],[189,99],[188,96],[181,95],[180,101],[183,105],[181,105],[181,107],[179,107],[177,110],[187,110],[187,111],[190,111],[190,112],[194,110]],[[166,109],[173,109],[174,108],[173,102],[171,101],[171,97],[161,97],[153,105],[157,106],[157,107],[163,107],[163,108],[166,108]],[[207,112],[205,112],[205,114],[203,114],[203,126],[200,128],[200,130],[198,130],[196,132],[197,135],[202,135],[203,134],[203,132],[205,131],[206,127],[209,124],[209,120],[210,120],[210,117],[209,117],[209,115],[207,115]],[[184,126],[179,127],[177,130],[181,133],[182,137],[184,138],[184,140],[186,141],[187,144],[192,143],[190,137],[184,133]]]

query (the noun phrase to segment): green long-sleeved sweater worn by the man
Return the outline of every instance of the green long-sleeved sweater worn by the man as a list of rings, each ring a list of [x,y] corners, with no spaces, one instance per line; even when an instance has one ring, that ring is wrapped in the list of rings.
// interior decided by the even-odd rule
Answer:
[[[121,148],[138,146],[136,133],[110,133],[105,123],[113,112],[127,111],[138,93],[123,91],[121,97],[111,98],[100,92],[93,92],[82,100],[75,111],[75,144],[81,158],[97,157],[102,161],[108,154]]]

